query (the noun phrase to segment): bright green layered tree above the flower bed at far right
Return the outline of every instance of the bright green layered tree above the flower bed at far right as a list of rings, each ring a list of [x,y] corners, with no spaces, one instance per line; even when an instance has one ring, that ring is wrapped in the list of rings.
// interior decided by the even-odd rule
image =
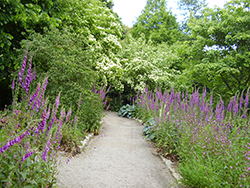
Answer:
[[[250,86],[250,2],[232,0],[224,8],[205,9],[203,18],[191,18],[190,75],[224,99]]]

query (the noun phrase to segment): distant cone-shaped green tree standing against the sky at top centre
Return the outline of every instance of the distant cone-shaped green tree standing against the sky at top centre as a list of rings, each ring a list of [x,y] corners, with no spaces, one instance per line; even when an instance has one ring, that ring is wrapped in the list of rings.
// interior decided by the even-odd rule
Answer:
[[[176,17],[172,12],[166,10],[165,0],[148,0],[142,14],[137,18],[137,22],[131,30],[135,38],[139,38],[142,33],[147,40],[151,38],[155,44],[166,42],[173,44],[181,37],[178,30]]]

